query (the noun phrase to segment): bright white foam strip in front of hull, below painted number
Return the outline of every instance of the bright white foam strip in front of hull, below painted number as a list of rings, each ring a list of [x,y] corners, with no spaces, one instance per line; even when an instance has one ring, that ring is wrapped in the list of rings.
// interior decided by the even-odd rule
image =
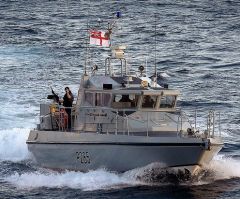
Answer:
[[[68,171],[64,173],[15,173],[4,178],[19,189],[32,189],[39,187],[61,188],[69,187],[84,191],[98,189],[113,189],[124,186],[137,185],[135,179],[124,175],[108,172],[104,169],[89,171],[87,173]]]

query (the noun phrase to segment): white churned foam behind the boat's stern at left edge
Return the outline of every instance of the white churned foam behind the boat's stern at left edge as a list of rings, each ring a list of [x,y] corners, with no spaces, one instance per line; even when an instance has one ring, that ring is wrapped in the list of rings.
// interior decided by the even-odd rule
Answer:
[[[0,161],[28,159],[26,140],[30,129],[13,128],[0,130]]]

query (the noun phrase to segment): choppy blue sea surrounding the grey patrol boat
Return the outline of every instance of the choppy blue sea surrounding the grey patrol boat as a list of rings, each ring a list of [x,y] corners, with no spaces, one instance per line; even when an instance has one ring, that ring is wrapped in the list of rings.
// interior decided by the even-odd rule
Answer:
[[[121,12],[121,18],[115,17]],[[159,82],[180,90],[178,106],[221,113],[224,147],[195,180],[175,182],[136,168],[56,172],[34,164],[26,145],[50,87],[76,96],[84,64],[104,68],[107,48],[88,29],[116,21],[112,44],[127,45],[131,72],[156,63]],[[240,1],[0,0],[0,198],[240,198]],[[141,158],[136,157],[136,158]],[[126,163],[127,164],[127,163]]]

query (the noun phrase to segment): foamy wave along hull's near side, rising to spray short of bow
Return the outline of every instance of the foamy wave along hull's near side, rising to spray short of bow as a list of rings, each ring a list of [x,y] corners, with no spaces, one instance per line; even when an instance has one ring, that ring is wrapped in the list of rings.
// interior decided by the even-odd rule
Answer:
[[[152,163],[125,173],[114,173],[106,169],[92,170],[87,173],[65,171],[62,173],[47,169],[39,169],[25,173],[15,172],[2,178],[18,189],[35,189],[40,187],[81,189],[83,191],[122,189],[134,186],[152,186],[168,183],[162,175],[162,165]],[[159,169],[159,170],[157,170]],[[169,176],[167,176],[169,177]],[[159,179],[163,178],[163,179]],[[160,180],[158,183],[156,180]]]

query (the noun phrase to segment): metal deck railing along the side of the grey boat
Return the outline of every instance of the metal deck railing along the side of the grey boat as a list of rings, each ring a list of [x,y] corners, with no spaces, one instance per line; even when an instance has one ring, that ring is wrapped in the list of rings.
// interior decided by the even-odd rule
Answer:
[[[67,111],[71,110],[71,111]],[[67,112],[71,113],[70,115]],[[194,127],[189,117],[183,111],[160,112],[156,110],[113,109],[105,107],[63,107],[55,106],[51,112],[54,130],[85,131],[105,134],[146,135],[156,136],[156,133],[171,132],[172,136],[181,137],[214,137],[216,129],[216,113],[210,111],[207,115],[207,125],[204,133],[197,129],[197,112],[194,114]],[[220,113],[218,113],[218,131],[221,136]],[[164,125],[168,125],[164,128]],[[188,125],[188,126],[186,126]],[[188,130],[187,130],[188,129]],[[159,131],[158,131],[159,130]]]

